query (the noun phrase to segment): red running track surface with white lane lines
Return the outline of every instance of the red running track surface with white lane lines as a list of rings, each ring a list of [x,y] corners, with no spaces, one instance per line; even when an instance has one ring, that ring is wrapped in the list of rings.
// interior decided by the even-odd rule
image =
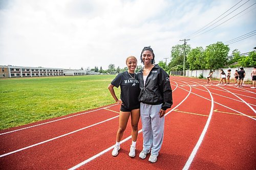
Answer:
[[[1,169],[256,169],[256,90],[170,77],[174,105],[165,115],[156,163],[128,153],[130,120],[121,150],[111,155],[119,105],[0,131]]]

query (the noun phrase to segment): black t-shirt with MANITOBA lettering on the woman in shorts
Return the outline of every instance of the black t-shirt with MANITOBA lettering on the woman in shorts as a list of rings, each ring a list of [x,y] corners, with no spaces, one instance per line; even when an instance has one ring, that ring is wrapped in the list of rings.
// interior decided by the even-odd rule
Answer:
[[[125,108],[133,108],[139,104],[138,96],[140,94],[140,87],[138,76],[137,74],[130,75],[127,71],[122,72],[111,82],[111,84],[117,88],[120,86],[120,99]]]

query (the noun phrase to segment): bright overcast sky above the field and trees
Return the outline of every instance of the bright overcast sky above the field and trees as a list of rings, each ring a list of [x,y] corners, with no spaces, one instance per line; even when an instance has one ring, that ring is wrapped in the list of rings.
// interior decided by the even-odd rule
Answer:
[[[240,1],[0,0],[0,65],[123,68],[126,57],[139,60],[148,45],[157,63],[164,58],[168,63],[172,46]],[[247,1],[209,29],[250,8],[211,31],[189,37],[188,44],[205,48],[256,30],[256,1]],[[256,36],[229,45],[230,53],[234,49],[247,53],[254,46]]]

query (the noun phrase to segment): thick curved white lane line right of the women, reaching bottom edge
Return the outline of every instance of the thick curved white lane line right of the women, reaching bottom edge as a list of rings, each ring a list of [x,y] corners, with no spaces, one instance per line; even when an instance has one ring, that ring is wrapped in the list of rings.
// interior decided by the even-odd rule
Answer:
[[[206,88],[206,87],[204,87],[204,88]],[[197,141],[197,144],[196,144],[195,148],[193,149],[193,151],[191,152],[191,154],[190,154],[190,156],[189,156],[185,166],[183,167],[183,170],[188,169],[189,166],[191,165],[191,163],[193,162],[193,160],[194,160],[194,158],[195,158],[195,156],[197,154],[197,151],[198,151],[198,149],[199,149],[199,147],[200,147],[200,145],[201,145],[201,143],[202,143],[202,141],[204,139],[204,136],[205,136],[205,134],[207,132],[209,124],[210,124],[210,120],[211,120],[211,117],[212,117],[212,111],[214,110],[214,98],[212,97],[211,92],[208,89],[207,89],[207,91],[209,92],[210,98],[211,98],[210,114],[209,114],[207,122],[206,122],[206,124],[204,126],[204,129],[203,129],[203,131],[202,131],[202,133],[201,133],[201,135],[200,135],[200,137],[199,137],[199,139]]]

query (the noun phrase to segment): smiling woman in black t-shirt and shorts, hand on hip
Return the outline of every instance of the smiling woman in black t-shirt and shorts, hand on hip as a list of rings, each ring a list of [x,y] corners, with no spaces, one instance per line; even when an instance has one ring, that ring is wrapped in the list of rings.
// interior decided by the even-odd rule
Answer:
[[[120,141],[131,114],[132,145],[129,156],[135,157],[136,140],[138,136],[138,122],[140,119],[140,102],[138,100],[140,87],[138,76],[134,72],[137,67],[137,59],[134,56],[128,57],[126,59],[126,65],[128,67],[128,71],[118,74],[108,87],[116,103],[121,104],[119,128],[116,134],[116,144],[112,151],[112,155],[118,155],[118,151],[120,150]],[[114,91],[114,87],[118,88],[119,86],[121,88],[120,99],[117,98]]]

